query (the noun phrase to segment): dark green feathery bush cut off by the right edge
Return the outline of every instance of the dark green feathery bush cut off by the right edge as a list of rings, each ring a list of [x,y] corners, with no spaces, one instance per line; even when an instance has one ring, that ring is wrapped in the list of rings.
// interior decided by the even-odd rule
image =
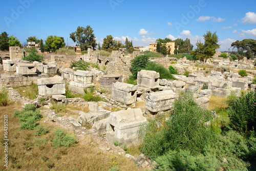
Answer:
[[[256,125],[256,91],[248,91],[229,105],[230,125],[234,130],[248,134]]]

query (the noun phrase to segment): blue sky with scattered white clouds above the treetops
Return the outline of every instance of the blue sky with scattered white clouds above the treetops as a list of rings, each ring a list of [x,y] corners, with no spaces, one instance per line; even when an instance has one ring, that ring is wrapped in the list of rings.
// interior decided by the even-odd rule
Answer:
[[[203,40],[207,31],[219,36],[220,50],[244,38],[256,39],[256,1],[40,1],[1,0],[0,32],[26,44],[29,36],[46,40],[49,35],[69,38],[78,26],[91,26],[97,42],[112,35],[123,43],[149,46],[157,38]],[[231,48],[230,48],[231,50]]]

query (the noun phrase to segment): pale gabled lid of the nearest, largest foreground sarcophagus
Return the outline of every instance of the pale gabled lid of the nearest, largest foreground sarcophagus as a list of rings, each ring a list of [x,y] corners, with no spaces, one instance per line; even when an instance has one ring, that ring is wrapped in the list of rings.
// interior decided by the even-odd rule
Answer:
[[[146,122],[146,118],[143,116],[141,109],[112,112],[109,118],[109,123],[117,127],[119,130],[140,126]]]

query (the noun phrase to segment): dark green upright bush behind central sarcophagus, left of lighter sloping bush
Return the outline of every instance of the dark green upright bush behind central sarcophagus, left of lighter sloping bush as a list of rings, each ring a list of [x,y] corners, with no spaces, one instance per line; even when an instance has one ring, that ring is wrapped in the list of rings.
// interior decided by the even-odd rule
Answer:
[[[145,69],[149,61],[150,61],[150,57],[148,55],[136,56],[134,59],[131,60],[130,70],[135,79],[137,78],[138,72],[140,70]]]

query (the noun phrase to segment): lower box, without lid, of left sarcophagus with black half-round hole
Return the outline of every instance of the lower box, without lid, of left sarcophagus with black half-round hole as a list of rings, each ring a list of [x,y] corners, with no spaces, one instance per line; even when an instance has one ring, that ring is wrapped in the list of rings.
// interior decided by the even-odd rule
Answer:
[[[38,85],[38,94],[41,96],[65,94],[65,84]]]

